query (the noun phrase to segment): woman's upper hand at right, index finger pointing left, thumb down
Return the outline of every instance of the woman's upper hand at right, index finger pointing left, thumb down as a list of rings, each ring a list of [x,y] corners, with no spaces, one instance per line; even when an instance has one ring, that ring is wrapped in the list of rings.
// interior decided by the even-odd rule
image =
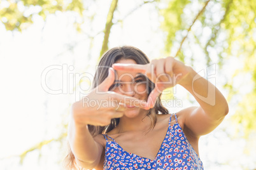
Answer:
[[[155,83],[155,88],[148,96],[148,108],[154,107],[157,97],[164,89],[185,83],[185,77],[190,72],[190,67],[171,56],[152,60],[146,65],[115,63],[112,67],[115,70],[143,73]]]

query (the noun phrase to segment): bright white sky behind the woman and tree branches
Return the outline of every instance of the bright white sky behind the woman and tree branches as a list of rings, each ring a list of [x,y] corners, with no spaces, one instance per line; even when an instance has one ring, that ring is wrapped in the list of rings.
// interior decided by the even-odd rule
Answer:
[[[90,25],[82,26],[91,36],[104,29],[108,13],[106,6],[110,5],[109,1],[96,2],[94,4],[89,1],[90,8],[85,15],[92,15],[96,9],[101,13],[97,13]],[[139,3],[135,0],[122,0],[119,4],[115,17],[122,19]],[[41,86],[41,74],[47,67],[57,65],[61,69],[67,66],[69,76],[83,72],[93,76],[103,41],[101,33],[94,37],[90,48],[90,39],[86,34],[78,34],[73,27],[73,21],[79,20],[75,13],[59,12],[48,16],[46,22],[39,16],[34,16],[33,19],[34,24],[22,33],[6,31],[0,23],[0,169],[62,169],[58,161],[64,155],[65,146],[59,143],[43,147],[40,160],[38,151],[29,153],[22,165],[18,164],[18,157],[3,158],[20,155],[42,140],[59,136],[63,130],[61,125],[68,121],[69,105],[78,97],[77,94],[70,94],[73,92],[70,86],[74,81],[72,77],[68,77],[69,94],[50,95]],[[125,18],[124,23],[113,25],[109,46],[132,45],[150,58],[162,57],[164,34],[159,25],[160,20],[153,5],[147,4]],[[207,30],[205,32],[208,34]],[[234,64],[238,65],[239,61]],[[203,66],[196,68],[197,71],[203,69]],[[46,74],[49,88],[62,89],[62,86],[68,86],[62,84],[62,70],[50,70]],[[219,79],[216,80],[218,85]],[[82,88],[88,88],[87,86],[85,82]],[[178,98],[186,98],[187,93],[182,88],[178,87],[177,91],[180,93],[177,93]],[[190,105],[183,100],[183,107]],[[180,109],[170,110],[174,112]],[[199,152],[205,169],[241,169],[242,166],[253,166],[252,160],[256,160],[256,155],[249,157],[243,154],[245,141],[231,141],[223,131],[227,126],[228,122],[224,122],[213,133],[201,139]],[[230,128],[226,130],[230,134],[234,133]]]

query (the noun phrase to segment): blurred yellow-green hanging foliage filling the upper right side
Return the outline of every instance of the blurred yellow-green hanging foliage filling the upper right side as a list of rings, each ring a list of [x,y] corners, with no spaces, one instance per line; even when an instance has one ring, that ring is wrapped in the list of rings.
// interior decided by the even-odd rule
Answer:
[[[171,53],[171,50],[175,49],[174,42],[181,42],[176,39],[179,31],[189,31],[191,21],[188,22],[188,16],[185,17],[184,11],[195,13],[191,8],[195,3],[203,8],[203,4],[207,1],[169,1],[167,8],[160,11],[160,14],[164,16],[162,29],[167,33],[167,53]],[[216,16],[221,17],[217,18]],[[215,49],[217,52],[220,68],[226,67],[225,62],[230,58],[238,58],[241,61],[242,67],[237,69],[232,77],[228,77],[224,87],[229,90],[229,101],[239,96],[239,99],[236,99],[238,100],[236,114],[232,115],[232,120],[235,124],[243,125],[246,137],[256,129],[254,123],[256,120],[256,1],[210,1],[206,11],[198,18],[197,22],[201,24],[202,30],[204,28],[211,30],[209,37],[205,37],[203,32],[201,34],[190,32],[204,51],[206,65],[209,65],[214,57],[210,53],[211,49]],[[200,41],[202,36],[208,41]],[[187,56],[181,50],[178,57],[184,61]],[[196,60],[193,56],[190,59],[193,65]],[[220,70],[220,72],[222,71]],[[246,75],[251,76],[248,82],[243,80]],[[232,80],[238,77],[242,77],[242,79],[239,78],[241,86],[234,88],[236,86]],[[249,92],[242,93],[240,91],[245,90],[241,90],[241,88],[249,88]]]

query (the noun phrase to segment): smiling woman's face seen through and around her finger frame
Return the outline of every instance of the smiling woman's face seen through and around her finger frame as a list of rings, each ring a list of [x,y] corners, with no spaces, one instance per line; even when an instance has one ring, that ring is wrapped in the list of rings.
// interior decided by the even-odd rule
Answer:
[[[133,63],[136,62],[132,59],[121,59],[116,63]],[[115,82],[113,83],[113,88],[111,91],[115,91],[121,95],[132,96],[134,98],[138,98],[139,100],[147,100],[148,93],[146,93],[147,83],[145,76],[141,73],[136,72],[125,72],[121,70],[117,71],[117,77],[115,77]],[[135,117],[139,114],[139,112],[143,109],[139,107],[132,107],[130,105],[126,105],[127,110],[125,111],[125,115],[127,117]],[[145,111],[145,110],[144,110]]]

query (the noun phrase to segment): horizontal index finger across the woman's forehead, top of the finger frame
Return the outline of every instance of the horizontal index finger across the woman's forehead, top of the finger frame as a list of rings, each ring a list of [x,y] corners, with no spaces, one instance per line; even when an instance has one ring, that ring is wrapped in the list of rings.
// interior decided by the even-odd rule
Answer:
[[[146,65],[141,65],[141,64],[114,63],[112,65],[112,67],[115,70],[125,70],[125,71],[129,71],[129,72],[145,73],[147,64]]]

